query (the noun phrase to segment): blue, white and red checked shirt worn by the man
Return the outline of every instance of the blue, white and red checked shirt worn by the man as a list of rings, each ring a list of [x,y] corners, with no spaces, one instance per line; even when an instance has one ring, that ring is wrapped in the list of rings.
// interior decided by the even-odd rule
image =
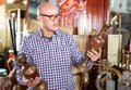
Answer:
[[[38,30],[22,41],[20,53],[26,54],[28,63],[37,65],[39,76],[48,83],[48,90],[74,90],[71,61],[76,65],[85,56],[79,50],[73,36],[56,30],[52,39],[48,39]],[[92,64],[88,63],[88,67]],[[19,66],[16,78],[24,85]]]

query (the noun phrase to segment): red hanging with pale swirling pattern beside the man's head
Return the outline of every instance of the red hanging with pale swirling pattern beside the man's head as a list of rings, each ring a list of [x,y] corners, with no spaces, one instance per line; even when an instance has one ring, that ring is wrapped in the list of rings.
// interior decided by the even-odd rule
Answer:
[[[58,0],[62,18],[61,26],[78,27],[79,14],[86,11],[87,0]]]

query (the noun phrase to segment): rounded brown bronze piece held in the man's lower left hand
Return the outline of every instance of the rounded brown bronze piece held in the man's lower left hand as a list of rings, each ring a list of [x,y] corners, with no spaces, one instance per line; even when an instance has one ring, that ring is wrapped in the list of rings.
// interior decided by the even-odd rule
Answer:
[[[16,57],[16,61],[19,64],[22,64],[24,66],[23,68],[23,75],[26,79],[35,79],[35,77],[39,77],[39,74],[37,72],[37,66],[33,63],[26,62],[26,55],[19,54]],[[34,90],[46,90],[47,89],[47,82],[44,80],[40,80],[40,82],[34,87]]]

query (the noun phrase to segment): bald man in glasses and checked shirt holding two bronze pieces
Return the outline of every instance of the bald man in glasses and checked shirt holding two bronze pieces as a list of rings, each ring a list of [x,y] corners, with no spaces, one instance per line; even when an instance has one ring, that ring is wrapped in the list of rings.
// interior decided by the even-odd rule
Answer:
[[[25,79],[21,65],[17,65],[16,78],[21,85],[32,89],[43,79],[47,81],[48,90],[74,90],[71,61],[76,65],[85,56],[76,47],[74,38],[59,29],[59,20],[58,8],[48,2],[38,5],[37,21],[40,29],[22,41],[20,53],[26,54],[28,63],[37,65],[39,77],[34,80]],[[98,60],[100,54],[102,49],[99,52],[88,51],[86,55],[92,61],[87,66],[92,67],[92,62]]]

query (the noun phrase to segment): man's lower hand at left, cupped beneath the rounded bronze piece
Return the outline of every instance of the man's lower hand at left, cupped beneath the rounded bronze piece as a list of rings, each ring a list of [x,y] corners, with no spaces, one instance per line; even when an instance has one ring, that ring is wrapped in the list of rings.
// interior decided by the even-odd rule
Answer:
[[[36,77],[35,79],[33,79],[33,78],[27,79],[26,86],[27,87],[36,87],[40,82],[40,80],[41,80],[40,77]]]

